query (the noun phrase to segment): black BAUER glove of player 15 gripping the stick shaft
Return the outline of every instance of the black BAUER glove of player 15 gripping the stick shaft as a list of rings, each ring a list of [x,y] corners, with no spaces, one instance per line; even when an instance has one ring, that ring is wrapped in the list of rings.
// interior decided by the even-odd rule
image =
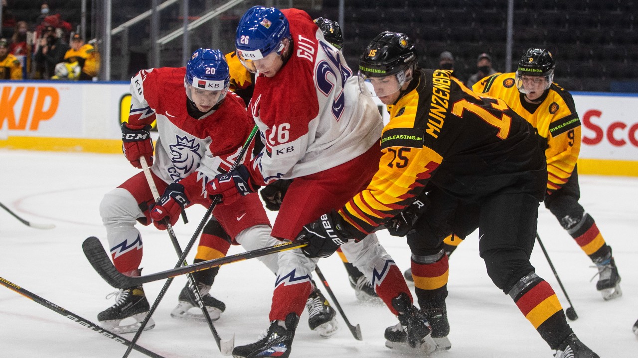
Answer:
[[[343,226],[343,218],[335,210],[323,214],[318,220],[306,224],[297,235],[297,240],[306,238],[310,243],[301,250],[307,257],[329,257],[339,246],[352,239]]]

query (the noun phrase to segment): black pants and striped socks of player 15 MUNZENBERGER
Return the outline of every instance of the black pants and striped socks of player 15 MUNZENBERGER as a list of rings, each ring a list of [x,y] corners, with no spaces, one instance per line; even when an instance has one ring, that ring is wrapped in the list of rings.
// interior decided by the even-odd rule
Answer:
[[[554,290],[534,273],[530,264],[537,228],[537,199],[529,194],[502,194],[478,204],[467,204],[452,197],[446,199],[447,194],[442,192],[437,195],[438,199],[431,201],[431,210],[439,216],[420,219],[417,224],[421,230],[408,236],[419,304],[440,303],[447,296],[449,266],[442,250],[443,238],[455,226],[468,230],[477,226],[479,252],[487,274],[512,297],[548,345],[556,349],[572,330]],[[469,215],[462,225],[457,224],[457,210],[475,215]]]

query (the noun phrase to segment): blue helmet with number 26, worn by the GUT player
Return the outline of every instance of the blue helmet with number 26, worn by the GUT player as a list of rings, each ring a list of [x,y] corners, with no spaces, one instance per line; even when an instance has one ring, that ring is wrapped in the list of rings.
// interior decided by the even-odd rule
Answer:
[[[237,25],[235,47],[244,60],[258,60],[273,50],[283,49],[281,40],[290,39],[288,19],[276,8],[253,6]]]

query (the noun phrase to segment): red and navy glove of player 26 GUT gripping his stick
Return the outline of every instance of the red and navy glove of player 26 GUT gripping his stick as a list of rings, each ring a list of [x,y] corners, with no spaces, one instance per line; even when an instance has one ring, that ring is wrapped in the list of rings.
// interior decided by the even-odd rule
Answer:
[[[206,184],[206,191],[210,196],[221,196],[221,201],[230,204],[237,200],[237,194],[248,195],[256,192],[258,185],[250,180],[250,173],[246,166],[238,166],[237,169],[226,174],[218,175]]]

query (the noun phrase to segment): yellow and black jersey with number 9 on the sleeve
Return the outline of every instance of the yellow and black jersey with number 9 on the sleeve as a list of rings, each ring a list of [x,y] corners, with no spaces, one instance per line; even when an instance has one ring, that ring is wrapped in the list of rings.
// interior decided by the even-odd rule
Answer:
[[[503,99],[512,110],[533,125],[543,138],[547,158],[547,191],[567,183],[581,150],[581,121],[574,99],[567,90],[552,83],[537,106],[525,103],[514,83],[516,73],[497,73],[476,83],[476,92]]]

